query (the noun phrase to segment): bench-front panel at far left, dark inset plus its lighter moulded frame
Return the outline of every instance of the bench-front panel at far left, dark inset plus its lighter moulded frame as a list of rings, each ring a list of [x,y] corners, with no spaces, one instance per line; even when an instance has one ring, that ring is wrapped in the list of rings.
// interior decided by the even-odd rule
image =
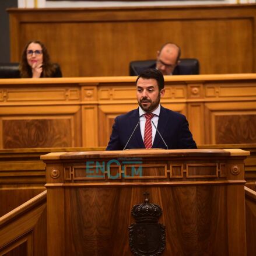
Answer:
[[[79,106],[1,107],[2,148],[80,146],[79,110]]]

